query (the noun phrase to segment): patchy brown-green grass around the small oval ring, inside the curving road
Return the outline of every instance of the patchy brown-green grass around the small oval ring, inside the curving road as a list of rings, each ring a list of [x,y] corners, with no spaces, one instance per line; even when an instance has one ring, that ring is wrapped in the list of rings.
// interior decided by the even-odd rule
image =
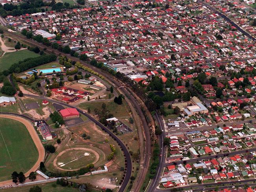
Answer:
[[[111,171],[119,170],[119,168],[124,167],[124,157],[123,154],[118,147],[117,143],[109,137],[108,134],[103,132],[98,126],[96,126],[93,122],[88,121],[84,122],[83,124],[80,124],[78,126],[70,127],[69,131],[71,131],[73,134],[71,136],[71,139],[69,142],[67,142],[67,145],[61,149],[61,151],[68,150],[68,149],[74,149],[74,148],[86,148],[93,151],[89,151],[89,153],[92,155],[92,153],[98,153],[98,160],[94,163],[95,169],[104,166],[105,164],[108,164],[108,168]],[[82,138],[83,134],[86,134],[86,138]],[[89,136],[89,138],[88,138]],[[107,142],[106,142],[107,139]],[[108,161],[107,157],[111,153],[111,149],[109,147],[109,144],[113,144],[116,148],[116,154],[115,157],[112,159],[111,162]],[[86,151],[85,149],[85,151]],[[59,162],[69,162],[72,159],[78,158],[79,154],[69,153],[69,155],[65,155],[65,157],[61,154],[59,154],[61,151],[58,151],[57,153],[54,153],[54,157],[52,157],[52,161],[46,162],[46,167],[50,171],[56,172],[63,172],[63,170],[59,170],[59,167],[57,164],[54,165],[53,159],[55,159],[58,155],[59,157],[56,159],[56,163]],[[74,150],[70,150],[74,152]],[[83,153],[85,153],[85,151]],[[61,156],[63,156],[62,160],[60,160]],[[88,157],[88,156],[87,156]],[[80,168],[81,166],[86,166],[86,164],[90,163],[92,160],[87,159],[87,157],[78,159],[74,161],[76,163],[75,165],[72,165],[72,169]],[[95,158],[96,160],[97,158]],[[94,161],[95,161],[94,160]],[[69,166],[69,164],[67,164]],[[76,166],[76,167],[73,167]],[[61,167],[63,169],[69,169],[69,167],[63,166]]]

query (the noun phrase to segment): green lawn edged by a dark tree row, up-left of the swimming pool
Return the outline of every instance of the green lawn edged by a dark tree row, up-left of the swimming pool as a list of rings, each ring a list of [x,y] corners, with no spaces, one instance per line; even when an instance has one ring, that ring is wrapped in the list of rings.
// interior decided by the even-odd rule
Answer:
[[[0,59],[0,71],[8,69],[12,64],[22,61],[27,58],[39,57],[39,54],[36,54],[29,50],[21,50],[17,52],[6,53]]]

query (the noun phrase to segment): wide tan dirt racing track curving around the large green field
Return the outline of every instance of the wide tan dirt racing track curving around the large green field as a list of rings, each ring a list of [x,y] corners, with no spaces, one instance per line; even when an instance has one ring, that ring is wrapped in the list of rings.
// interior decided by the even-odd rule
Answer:
[[[36,171],[37,168],[40,166],[40,162],[44,161],[45,148],[44,148],[43,144],[41,143],[41,140],[38,137],[37,132],[35,131],[34,127],[32,126],[32,123],[29,120],[26,120],[19,116],[8,115],[8,114],[0,114],[0,117],[17,120],[17,121],[21,122],[22,124],[24,124],[26,126],[26,128],[28,129],[28,132],[30,133],[30,136],[32,137],[33,142],[35,143],[35,146],[38,150],[38,159],[37,159],[37,162],[35,162],[35,164],[33,165],[33,167],[24,174],[25,177],[28,177],[30,172]],[[10,170],[10,177],[11,177],[11,173],[13,171],[15,171],[15,170]],[[0,185],[10,185],[10,184],[14,184],[12,180],[0,182]]]

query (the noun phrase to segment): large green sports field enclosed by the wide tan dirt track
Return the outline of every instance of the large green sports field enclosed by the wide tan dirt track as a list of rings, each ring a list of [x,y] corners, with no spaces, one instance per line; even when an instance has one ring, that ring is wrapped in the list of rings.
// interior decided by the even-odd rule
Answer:
[[[13,171],[28,171],[38,151],[24,124],[8,118],[0,118],[0,124],[0,181],[5,181]]]

